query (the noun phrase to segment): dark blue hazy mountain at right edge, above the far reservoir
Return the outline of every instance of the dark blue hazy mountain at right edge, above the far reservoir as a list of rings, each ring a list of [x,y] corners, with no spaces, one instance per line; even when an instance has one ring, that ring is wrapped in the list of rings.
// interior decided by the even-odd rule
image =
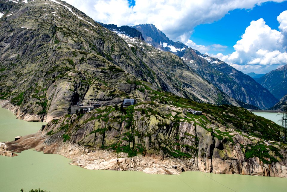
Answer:
[[[257,82],[268,89],[277,99],[287,94],[287,65],[270,71],[257,79]]]

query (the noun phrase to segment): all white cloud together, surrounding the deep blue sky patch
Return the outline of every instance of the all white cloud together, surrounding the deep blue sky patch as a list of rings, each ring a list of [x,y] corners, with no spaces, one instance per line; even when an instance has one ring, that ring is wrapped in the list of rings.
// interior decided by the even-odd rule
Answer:
[[[284,0],[273,0],[283,2]],[[190,40],[197,25],[212,23],[235,9],[252,9],[268,0],[67,0],[69,4],[85,12],[96,21],[106,24],[138,25],[154,24],[167,37],[181,41],[201,53],[212,50],[219,52],[213,57],[220,58],[243,72],[266,73],[276,69],[287,61],[287,11],[282,12],[277,20],[279,31],[271,29],[263,19],[252,21],[246,28],[241,40],[234,45],[234,52],[224,55],[227,47],[220,44],[198,45]]]

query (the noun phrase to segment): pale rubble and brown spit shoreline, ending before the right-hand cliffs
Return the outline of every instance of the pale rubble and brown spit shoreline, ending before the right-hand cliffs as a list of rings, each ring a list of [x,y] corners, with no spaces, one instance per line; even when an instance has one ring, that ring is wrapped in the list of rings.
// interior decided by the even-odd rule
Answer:
[[[128,157],[127,153],[117,154],[108,150],[89,150],[83,146],[71,143],[64,143],[62,133],[54,134],[51,138],[41,132],[21,137],[17,141],[2,143],[0,145],[0,155],[6,148],[7,156],[16,156],[14,152],[34,148],[37,152],[59,154],[66,158],[73,159],[72,165],[78,165],[90,170],[134,170],[143,171],[150,174],[179,174],[182,171],[198,171],[196,166],[186,167],[185,160],[168,158],[160,159],[155,155]],[[175,169],[175,168],[176,169]]]

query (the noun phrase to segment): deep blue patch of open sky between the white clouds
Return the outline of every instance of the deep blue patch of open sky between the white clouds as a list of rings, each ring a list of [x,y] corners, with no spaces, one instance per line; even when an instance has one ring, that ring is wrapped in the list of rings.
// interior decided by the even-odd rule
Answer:
[[[278,29],[279,23],[277,16],[287,10],[287,1],[282,3],[265,2],[261,6],[256,5],[253,9],[236,9],[229,11],[222,19],[210,24],[201,24],[194,28],[190,39],[196,44],[208,46],[211,44],[220,44],[227,46],[223,54],[230,54],[234,51],[233,46],[251,21],[263,18],[266,25],[272,29]],[[218,51],[210,50],[209,53],[217,54]]]

